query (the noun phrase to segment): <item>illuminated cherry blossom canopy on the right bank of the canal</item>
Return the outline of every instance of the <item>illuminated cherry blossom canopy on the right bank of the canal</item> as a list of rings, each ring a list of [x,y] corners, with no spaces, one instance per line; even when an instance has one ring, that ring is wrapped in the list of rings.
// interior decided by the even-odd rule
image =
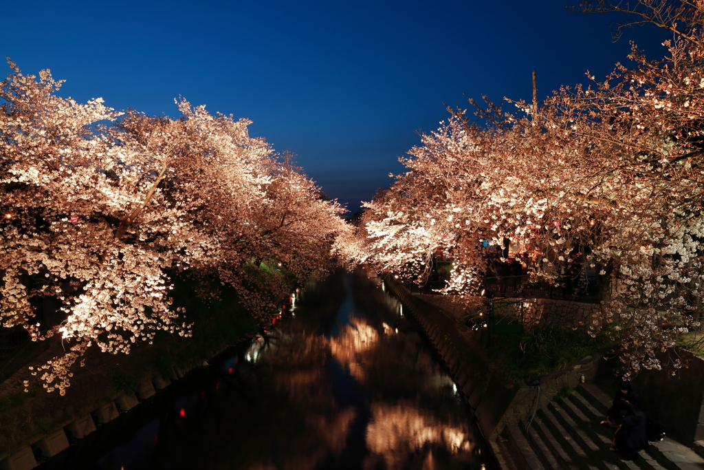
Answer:
[[[522,116],[472,102],[482,126],[449,110],[401,159],[408,173],[367,203],[346,256],[422,280],[433,255],[449,255],[444,291],[471,295],[486,275],[482,244],[508,238],[532,254],[534,279],[595,272],[603,308],[591,333],[623,334],[624,376],[659,369],[656,354],[702,314],[704,13],[683,11],[679,24],[694,24],[662,60],[634,46],[633,70],[540,107],[517,102]]]

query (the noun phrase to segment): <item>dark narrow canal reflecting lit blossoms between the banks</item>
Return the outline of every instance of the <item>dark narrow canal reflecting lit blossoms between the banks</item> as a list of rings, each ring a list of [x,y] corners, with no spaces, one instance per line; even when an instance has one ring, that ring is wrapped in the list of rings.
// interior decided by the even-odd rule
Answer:
[[[128,413],[151,416],[113,431],[112,448],[68,452],[44,466],[496,468],[432,345],[364,273],[308,285],[266,338],[167,390]]]

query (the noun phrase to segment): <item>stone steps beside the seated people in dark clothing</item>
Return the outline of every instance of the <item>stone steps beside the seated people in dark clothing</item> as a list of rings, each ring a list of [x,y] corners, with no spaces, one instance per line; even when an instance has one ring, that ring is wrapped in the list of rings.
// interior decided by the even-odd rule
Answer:
[[[550,402],[527,423],[508,426],[497,438],[504,470],[703,470],[704,459],[665,438],[650,443],[635,462],[609,450],[615,429],[599,424],[611,398],[591,383]]]

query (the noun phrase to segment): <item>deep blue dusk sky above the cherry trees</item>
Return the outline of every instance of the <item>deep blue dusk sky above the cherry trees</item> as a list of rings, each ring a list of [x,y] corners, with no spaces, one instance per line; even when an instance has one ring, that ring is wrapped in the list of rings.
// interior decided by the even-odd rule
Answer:
[[[667,33],[540,1],[5,2],[0,53],[25,73],[50,68],[61,94],[115,109],[177,115],[182,95],[253,120],[250,133],[356,211],[400,173],[398,156],[463,94],[539,97],[627,63],[629,40],[653,58]],[[9,71],[9,69],[6,69]]]

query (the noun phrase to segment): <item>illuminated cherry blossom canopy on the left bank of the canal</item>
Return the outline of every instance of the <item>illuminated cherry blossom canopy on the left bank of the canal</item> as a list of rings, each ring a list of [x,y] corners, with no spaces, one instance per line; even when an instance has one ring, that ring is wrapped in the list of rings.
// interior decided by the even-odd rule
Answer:
[[[8,61],[9,62],[9,61]],[[61,395],[87,348],[129,354],[157,330],[191,335],[170,277],[234,286],[258,316],[292,279],[326,272],[348,230],[337,202],[261,138],[249,120],[178,101],[179,119],[116,112],[56,95],[61,82],[12,73],[0,83],[0,321],[66,354],[35,374]],[[185,274],[184,274],[185,273]],[[284,276],[285,273],[285,276]],[[58,303],[59,321],[36,309]]]

